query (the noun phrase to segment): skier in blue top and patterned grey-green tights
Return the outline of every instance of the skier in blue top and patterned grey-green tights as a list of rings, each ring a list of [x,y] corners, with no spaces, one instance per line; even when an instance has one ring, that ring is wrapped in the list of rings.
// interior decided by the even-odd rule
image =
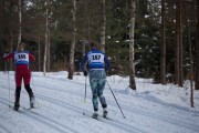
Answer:
[[[84,76],[87,76],[86,64],[88,64],[90,85],[93,94],[93,117],[96,119],[98,116],[97,98],[103,108],[103,116],[106,117],[107,104],[103,91],[106,83],[106,71],[109,70],[111,62],[102,51],[97,50],[97,44],[95,42],[91,42],[91,49],[92,50],[87,52],[82,60],[80,69],[84,72]]]

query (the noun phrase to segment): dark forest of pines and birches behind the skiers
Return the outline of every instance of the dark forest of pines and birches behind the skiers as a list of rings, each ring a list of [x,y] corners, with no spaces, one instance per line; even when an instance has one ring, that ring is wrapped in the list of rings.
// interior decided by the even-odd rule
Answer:
[[[127,76],[133,2],[135,75],[181,85],[176,78],[181,73],[181,81],[198,83],[197,0],[0,0],[0,54],[13,52],[22,41],[36,58],[32,71],[69,71],[71,61],[78,71],[95,41],[112,62],[108,74]],[[13,62],[0,60],[0,70],[14,70]]]

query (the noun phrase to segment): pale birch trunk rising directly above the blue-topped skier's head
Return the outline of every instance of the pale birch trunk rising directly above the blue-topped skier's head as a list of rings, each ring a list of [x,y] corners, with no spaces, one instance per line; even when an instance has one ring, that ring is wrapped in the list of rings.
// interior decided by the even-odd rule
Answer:
[[[105,44],[106,44],[106,1],[101,1],[102,6],[102,31],[101,31],[101,50],[105,52]]]

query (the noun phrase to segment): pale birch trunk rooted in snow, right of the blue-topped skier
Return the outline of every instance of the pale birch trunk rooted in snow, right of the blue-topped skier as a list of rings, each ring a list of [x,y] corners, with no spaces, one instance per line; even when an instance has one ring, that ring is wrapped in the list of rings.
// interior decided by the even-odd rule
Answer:
[[[130,0],[130,28],[129,28],[129,88],[136,90],[135,83],[135,63],[134,63],[134,30],[135,30],[135,11],[136,11],[136,0]]]

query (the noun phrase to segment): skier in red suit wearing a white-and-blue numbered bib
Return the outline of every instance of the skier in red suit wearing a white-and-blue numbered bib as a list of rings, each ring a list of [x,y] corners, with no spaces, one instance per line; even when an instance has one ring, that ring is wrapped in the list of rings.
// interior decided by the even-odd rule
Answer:
[[[30,106],[34,106],[34,94],[32,89],[30,88],[31,72],[29,70],[29,60],[35,61],[35,58],[29,53],[29,51],[24,50],[25,44],[20,43],[18,45],[18,50],[7,57],[3,57],[4,60],[14,59],[15,65],[15,102],[14,110],[18,111],[20,108],[20,92],[21,92],[21,83],[22,80],[24,82],[24,88],[29,93],[30,98]]]

